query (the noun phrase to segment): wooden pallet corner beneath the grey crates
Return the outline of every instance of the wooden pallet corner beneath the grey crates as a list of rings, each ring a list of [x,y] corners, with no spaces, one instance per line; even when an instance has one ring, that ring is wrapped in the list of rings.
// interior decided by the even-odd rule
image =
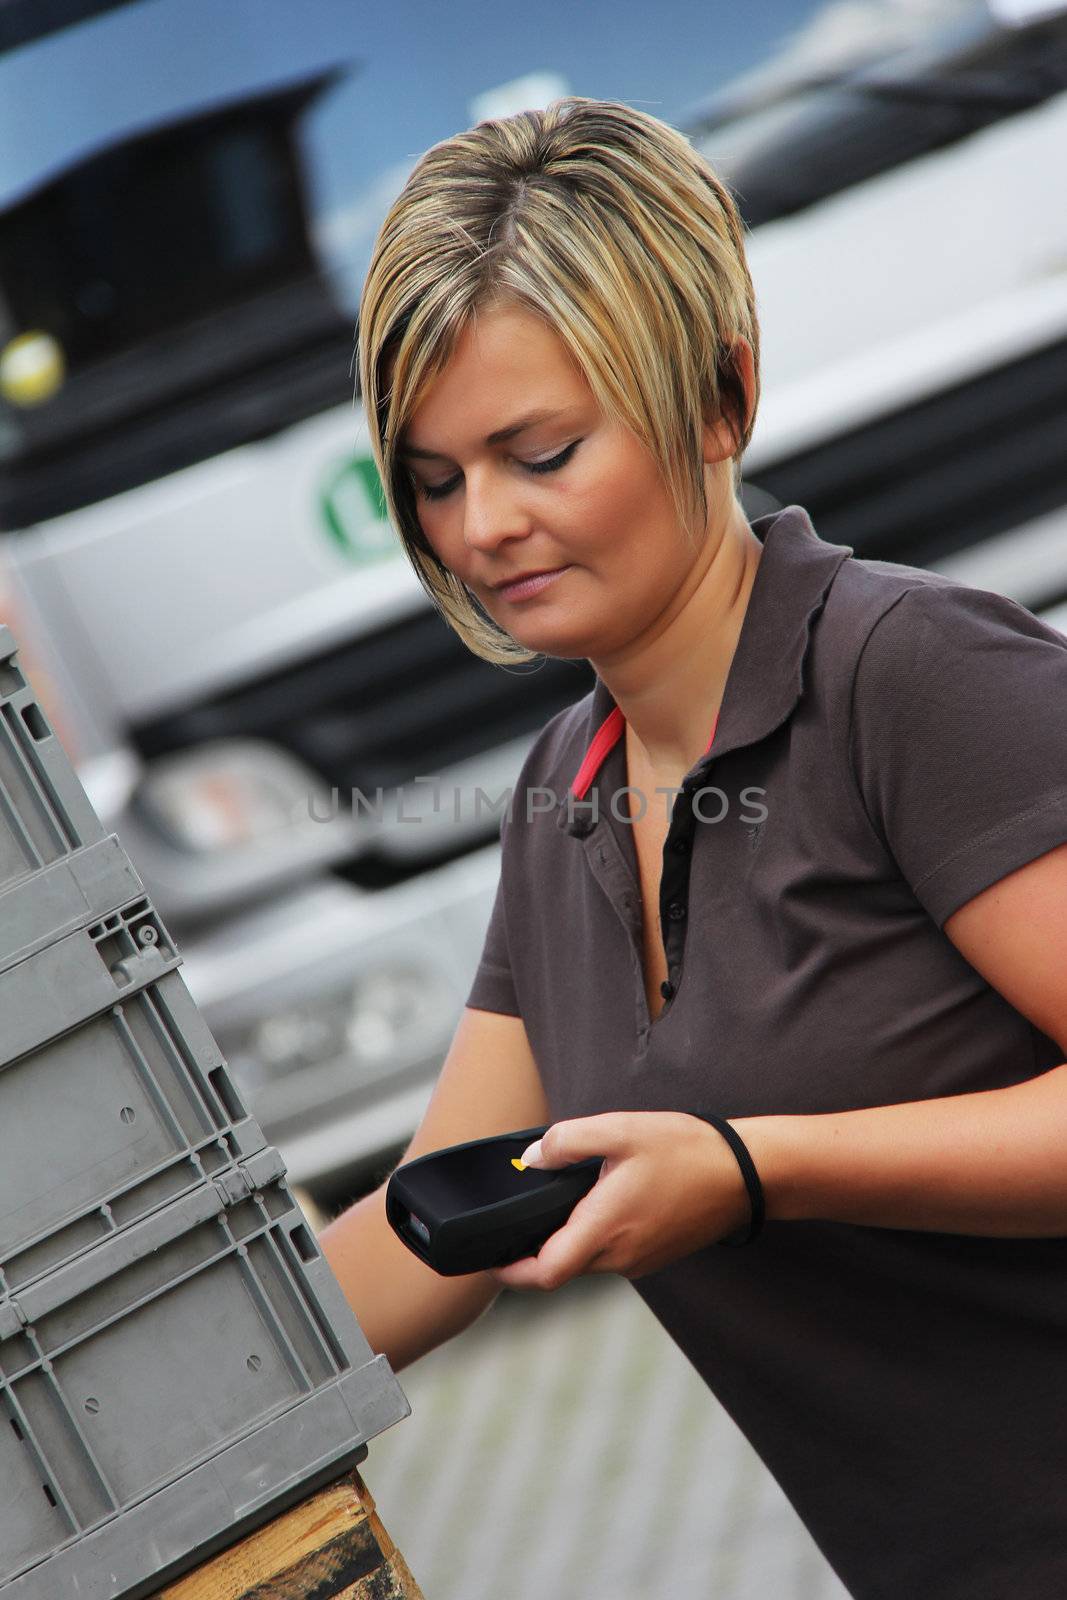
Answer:
[[[424,1600],[354,1469],[154,1600]]]

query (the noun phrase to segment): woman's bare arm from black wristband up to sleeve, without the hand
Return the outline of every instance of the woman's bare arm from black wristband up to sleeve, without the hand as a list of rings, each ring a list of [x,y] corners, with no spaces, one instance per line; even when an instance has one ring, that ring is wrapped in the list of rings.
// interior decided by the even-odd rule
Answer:
[[[1067,845],[974,896],[944,931],[1067,1056]],[[768,1218],[1067,1235],[1067,1062],[1005,1090],[731,1122]]]

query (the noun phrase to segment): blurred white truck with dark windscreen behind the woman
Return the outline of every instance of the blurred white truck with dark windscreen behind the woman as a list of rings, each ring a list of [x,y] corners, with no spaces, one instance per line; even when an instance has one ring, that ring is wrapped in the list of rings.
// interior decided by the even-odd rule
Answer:
[[[1059,616],[1067,29],[949,11],[685,123],[752,227],[744,504]],[[0,211],[0,614],[312,1189],[410,1138],[510,786],[592,685],[474,658],[384,518],[301,163],[339,70],[117,138]]]

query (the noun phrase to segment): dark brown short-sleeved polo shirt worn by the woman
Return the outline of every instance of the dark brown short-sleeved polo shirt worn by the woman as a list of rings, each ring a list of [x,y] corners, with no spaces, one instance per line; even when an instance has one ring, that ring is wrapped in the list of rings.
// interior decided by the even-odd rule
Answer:
[[[752,526],[710,747],[646,797],[672,805],[656,1021],[600,678],[504,816],[467,1005],[523,1018],[553,1122],[848,1110],[1064,1059],[941,930],[1067,840],[1067,642],[798,506]],[[633,1286],[857,1600],[1067,1595],[1067,1238],[768,1222]]]

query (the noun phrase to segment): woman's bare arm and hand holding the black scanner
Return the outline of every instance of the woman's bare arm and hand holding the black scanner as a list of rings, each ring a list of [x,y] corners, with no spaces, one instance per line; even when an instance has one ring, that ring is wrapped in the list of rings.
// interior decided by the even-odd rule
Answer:
[[[1067,845],[976,894],[944,931],[1067,1056]],[[752,1152],[771,1219],[1067,1235],[1067,1061],[1005,1090],[729,1120]],[[510,1288],[555,1290],[582,1272],[641,1277],[747,1221],[733,1150],[686,1112],[574,1117],[537,1144],[533,1165],[542,1168],[605,1162],[537,1256],[491,1270]]]

